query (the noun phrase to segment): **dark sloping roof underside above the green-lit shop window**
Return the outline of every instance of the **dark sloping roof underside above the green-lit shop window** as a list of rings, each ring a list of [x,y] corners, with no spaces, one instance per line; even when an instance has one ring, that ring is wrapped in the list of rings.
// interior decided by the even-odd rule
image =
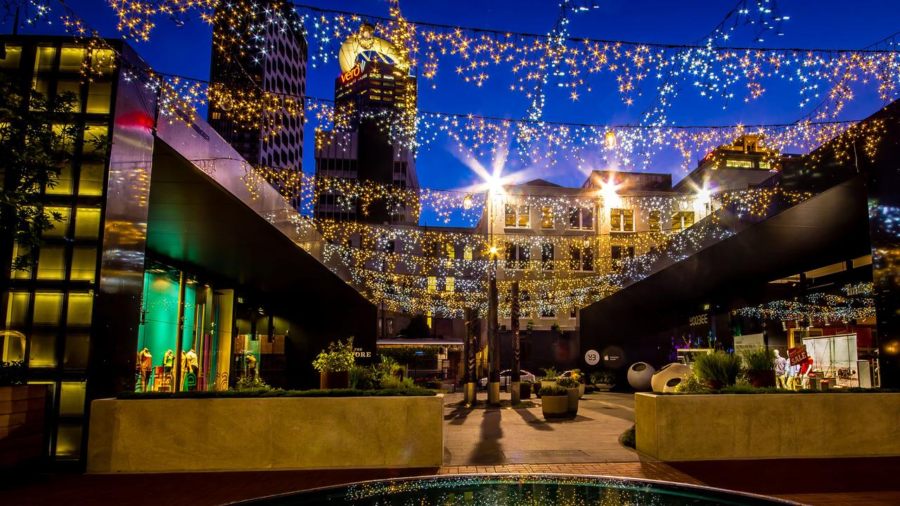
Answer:
[[[284,303],[371,303],[166,142],[156,140],[148,253]],[[374,306],[373,306],[374,307]]]

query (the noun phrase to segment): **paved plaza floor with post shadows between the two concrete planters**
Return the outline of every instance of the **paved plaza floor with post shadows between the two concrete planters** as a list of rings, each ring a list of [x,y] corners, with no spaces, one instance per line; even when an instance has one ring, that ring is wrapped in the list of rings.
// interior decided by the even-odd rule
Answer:
[[[501,393],[509,401],[509,393]],[[587,393],[578,416],[546,421],[540,399],[533,408],[459,407],[462,393],[445,396],[444,465],[509,465],[636,462],[642,457],[618,443],[635,423],[635,396],[630,393]]]

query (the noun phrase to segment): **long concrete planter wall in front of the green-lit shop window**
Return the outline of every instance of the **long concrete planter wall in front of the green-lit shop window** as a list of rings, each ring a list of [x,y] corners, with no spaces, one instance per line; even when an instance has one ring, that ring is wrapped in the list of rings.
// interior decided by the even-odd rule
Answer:
[[[102,399],[87,471],[437,467],[444,396]]]

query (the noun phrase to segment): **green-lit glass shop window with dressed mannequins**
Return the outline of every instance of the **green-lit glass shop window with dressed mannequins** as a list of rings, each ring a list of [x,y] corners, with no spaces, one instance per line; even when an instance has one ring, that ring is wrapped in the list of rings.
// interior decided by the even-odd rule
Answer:
[[[135,362],[135,392],[228,388],[234,295],[148,261]]]

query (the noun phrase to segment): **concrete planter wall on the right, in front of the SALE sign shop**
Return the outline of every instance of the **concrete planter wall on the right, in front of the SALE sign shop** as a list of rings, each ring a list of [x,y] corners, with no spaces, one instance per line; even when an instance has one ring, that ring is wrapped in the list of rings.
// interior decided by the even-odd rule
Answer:
[[[900,393],[636,393],[635,424],[663,461],[900,455]]]

